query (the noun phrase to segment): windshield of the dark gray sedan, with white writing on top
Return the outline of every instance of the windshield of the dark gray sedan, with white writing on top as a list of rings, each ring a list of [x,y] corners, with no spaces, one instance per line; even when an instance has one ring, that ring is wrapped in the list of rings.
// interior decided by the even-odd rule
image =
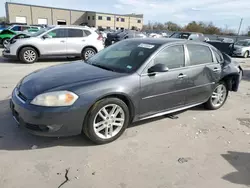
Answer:
[[[159,46],[155,43],[125,40],[100,51],[88,59],[87,63],[115,72],[133,73]]]

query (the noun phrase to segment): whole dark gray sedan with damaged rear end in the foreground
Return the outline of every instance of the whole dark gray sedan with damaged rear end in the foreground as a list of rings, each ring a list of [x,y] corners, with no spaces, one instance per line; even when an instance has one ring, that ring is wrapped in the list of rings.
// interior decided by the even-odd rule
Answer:
[[[129,39],[90,58],[36,71],[12,93],[14,119],[42,136],[84,133],[97,144],[135,121],[200,104],[219,109],[237,91],[241,67],[213,46],[179,39]]]

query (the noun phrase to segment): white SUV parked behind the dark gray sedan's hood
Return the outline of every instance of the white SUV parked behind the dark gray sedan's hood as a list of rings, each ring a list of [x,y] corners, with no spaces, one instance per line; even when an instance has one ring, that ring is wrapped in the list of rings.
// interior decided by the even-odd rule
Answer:
[[[24,63],[34,63],[44,56],[77,56],[87,60],[103,48],[102,36],[88,27],[56,26],[21,39],[13,37],[3,56]]]

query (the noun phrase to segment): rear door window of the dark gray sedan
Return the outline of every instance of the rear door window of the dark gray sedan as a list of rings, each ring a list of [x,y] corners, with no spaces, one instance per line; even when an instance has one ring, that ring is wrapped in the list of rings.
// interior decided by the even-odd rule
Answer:
[[[201,65],[213,62],[212,52],[207,46],[188,44],[187,45],[190,65]]]

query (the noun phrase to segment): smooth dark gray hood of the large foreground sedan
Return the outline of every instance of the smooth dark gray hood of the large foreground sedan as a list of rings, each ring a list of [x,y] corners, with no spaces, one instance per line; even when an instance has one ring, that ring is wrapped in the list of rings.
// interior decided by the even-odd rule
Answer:
[[[121,73],[107,71],[79,61],[35,71],[24,77],[18,88],[22,95],[31,100],[41,93],[56,90],[59,87],[60,90],[67,90],[74,84],[86,84],[121,75]]]

